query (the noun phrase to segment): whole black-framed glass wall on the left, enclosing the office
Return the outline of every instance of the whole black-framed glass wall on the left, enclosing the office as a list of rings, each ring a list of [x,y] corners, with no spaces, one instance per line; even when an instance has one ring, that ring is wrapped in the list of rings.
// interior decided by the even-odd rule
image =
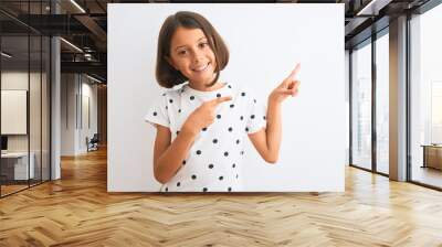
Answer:
[[[46,1],[21,1],[19,7],[19,17],[48,12]],[[50,39],[38,30],[3,13],[0,29],[0,196],[6,196],[50,179],[51,61]]]

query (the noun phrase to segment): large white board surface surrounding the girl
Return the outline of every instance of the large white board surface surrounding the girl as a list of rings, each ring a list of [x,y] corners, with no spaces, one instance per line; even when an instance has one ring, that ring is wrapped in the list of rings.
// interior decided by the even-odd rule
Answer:
[[[157,192],[156,131],[144,121],[160,94],[155,79],[159,29],[181,10],[204,15],[223,37],[230,62],[221,78],[266,99],[302,63],[299,94],[283,106],[280,160],[266,164],[249,142],[244,191],[344,191],[344,4],[109,4],[109,192]]]

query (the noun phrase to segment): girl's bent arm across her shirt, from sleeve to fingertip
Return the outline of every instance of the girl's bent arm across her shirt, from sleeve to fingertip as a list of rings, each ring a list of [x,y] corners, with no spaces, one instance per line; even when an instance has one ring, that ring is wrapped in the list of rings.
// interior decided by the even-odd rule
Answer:
[[[189,115],[173,141],[170,141],[170,129],[157,125],[154,147],[154,175],[158,182],[167,183],[173,178],[201,129],[214,121],[217,106],[228,100],[231,100],[230,96],[203,103]]]

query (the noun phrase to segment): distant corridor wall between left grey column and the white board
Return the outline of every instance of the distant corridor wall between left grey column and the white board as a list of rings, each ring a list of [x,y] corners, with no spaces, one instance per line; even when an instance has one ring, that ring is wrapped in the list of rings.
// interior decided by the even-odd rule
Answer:
[[[62,74],[61,155],[85,153],[86,137],[97,132],[97,86],[80,74]],[[90,99],[91,126],[84,119],[85,98]],[[82,122],[83,121],[83,122]]]

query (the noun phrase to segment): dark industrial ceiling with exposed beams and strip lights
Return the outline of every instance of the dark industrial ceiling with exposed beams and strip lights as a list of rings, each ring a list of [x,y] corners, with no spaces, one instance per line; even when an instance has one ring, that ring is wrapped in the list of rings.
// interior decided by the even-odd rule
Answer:
[[[43,35],[61,35],[62,72],[88,73],[106,79],[107,53],[107,3],[154,3],[154,2],[278,2],[278,3],[345,3],[345,40],[346,47],[366,40],[371,35],[372,26],[388,26],[390,18],[411,11],[429,0],[219,0],[219,1],[182,1],[182,0],[1,0],[1,33],[8,36],[4,42],[20,54],[27,51],[23,43],[28,31]],[[57,14],[55,13],[55,10]],[[373,23],[377,23],[373,25]],[[4,39],[3,39],[4,40]],[[73,45],[71,45],[71,44]],[[13,47],[15,46],[15,47]],[[2,45],[2,47],[6,47]],[[78,50],[80,49],[80,50]],[[39,52],[38,49],[31,49]],[[24,53],[23,53],[24,54]]]

